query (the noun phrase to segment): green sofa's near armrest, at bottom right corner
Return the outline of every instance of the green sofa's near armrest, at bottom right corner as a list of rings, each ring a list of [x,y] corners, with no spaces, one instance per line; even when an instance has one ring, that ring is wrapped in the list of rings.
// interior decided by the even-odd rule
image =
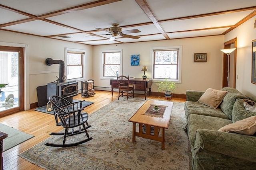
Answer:
[[[256,162],[256,137],[236,133],[198,129],[194,144],[197,152],[218,152],[230,157]]]

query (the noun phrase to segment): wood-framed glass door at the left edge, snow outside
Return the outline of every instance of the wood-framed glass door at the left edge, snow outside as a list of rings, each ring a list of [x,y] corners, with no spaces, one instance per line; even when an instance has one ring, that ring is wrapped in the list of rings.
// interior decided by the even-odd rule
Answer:
[[[0,117],[24,110],[24,48],[0,46]]]

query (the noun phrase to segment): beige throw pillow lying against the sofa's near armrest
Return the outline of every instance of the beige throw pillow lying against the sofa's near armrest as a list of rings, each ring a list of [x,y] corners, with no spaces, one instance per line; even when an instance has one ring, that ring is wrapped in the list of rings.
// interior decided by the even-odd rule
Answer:
[[[236,121],[220,128],[218,131],[239,133],[242,135],[253,135],[256,133],[256,116],[251,116],[243,120]]]

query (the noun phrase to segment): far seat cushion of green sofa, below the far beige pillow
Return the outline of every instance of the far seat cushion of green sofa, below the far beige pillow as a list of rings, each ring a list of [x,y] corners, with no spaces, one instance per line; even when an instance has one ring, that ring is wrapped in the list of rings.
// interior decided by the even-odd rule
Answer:
[[[206,106],[205,104],[201,104],[199,102],[190,102],[186,101],[184,103],[185,115],[188,119],[188,116],[191,114],[196,115],[206,115],[206,116],[213,116],[213,117],[220,117],[223,119],[229,119],[229,117],[223,113],[220,108],[214,109],[210,106]]]

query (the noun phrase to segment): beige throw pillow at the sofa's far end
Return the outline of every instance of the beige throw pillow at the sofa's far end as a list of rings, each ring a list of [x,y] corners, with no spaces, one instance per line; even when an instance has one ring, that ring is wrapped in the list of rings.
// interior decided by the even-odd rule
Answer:
[[[204,94],[199,98],[197,102],[210,106],[216,109],[220,106],[224,96],[228,93],[228,91],[215,90],[212,88],[208,88]]]

